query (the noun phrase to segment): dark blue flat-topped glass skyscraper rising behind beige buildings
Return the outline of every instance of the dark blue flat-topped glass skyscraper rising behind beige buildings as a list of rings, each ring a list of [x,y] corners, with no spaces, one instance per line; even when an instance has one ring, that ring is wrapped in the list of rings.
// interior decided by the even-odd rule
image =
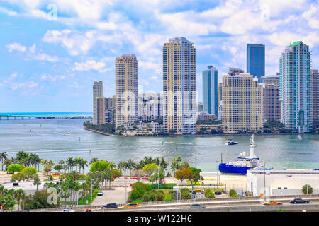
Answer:
[[[264,44],[247,44],[247,73],[264,76]]]

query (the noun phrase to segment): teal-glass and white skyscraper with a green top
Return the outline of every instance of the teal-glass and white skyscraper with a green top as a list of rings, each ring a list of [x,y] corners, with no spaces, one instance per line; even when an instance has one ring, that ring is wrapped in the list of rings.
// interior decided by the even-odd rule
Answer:
[[[311,52],[303,42],[293,42],[281,52],[281,122],[286,129],[308,132],[311,120]]]

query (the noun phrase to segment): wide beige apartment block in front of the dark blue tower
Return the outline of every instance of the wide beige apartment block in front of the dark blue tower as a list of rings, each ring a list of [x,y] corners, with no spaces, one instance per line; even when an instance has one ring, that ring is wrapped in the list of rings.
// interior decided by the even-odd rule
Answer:
[[[263,127],[263,88],[248,73],[223,76],[225,133],[258,131]]]

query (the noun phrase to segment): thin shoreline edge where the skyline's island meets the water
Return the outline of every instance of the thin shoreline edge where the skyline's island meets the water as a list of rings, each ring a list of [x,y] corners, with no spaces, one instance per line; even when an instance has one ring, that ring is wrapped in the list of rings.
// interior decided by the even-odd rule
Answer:
[[[97,131],[94,129],[89,129],[86,128],[84,126],[84,129],[87,131],[92,131],[94,133],[100,133],[102,135],[106,135],[106,136],[117,136],[117,137],[181,137],[181,136],[194,136],[194,137],[198,137],[198,136],[250,136],[252,134],[254,134],[254,136],[259,136],[259,135],[298,135],[298,133],[243,133],[243,134],[237,134],[237,133],[223,133],[223,134],[197,134],[197,135],[181,135],[181,134],[173,134],[173,135],[134,135],[134,136],[123,136],[123,135],[115,135],[115,134],[109,134],[106,132],[102,132],[102,131]],[[319,135],[319,133],[301,133],[301,135]]]

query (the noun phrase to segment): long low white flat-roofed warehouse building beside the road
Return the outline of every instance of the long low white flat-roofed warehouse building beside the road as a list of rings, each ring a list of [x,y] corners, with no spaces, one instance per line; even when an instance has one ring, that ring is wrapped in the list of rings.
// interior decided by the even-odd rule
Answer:
[[[248,170],[247,191],[253,196],[298,196],[303,195],[302,188],[309,184],[312,194],[319,194],[319,170],[283,169]]]

